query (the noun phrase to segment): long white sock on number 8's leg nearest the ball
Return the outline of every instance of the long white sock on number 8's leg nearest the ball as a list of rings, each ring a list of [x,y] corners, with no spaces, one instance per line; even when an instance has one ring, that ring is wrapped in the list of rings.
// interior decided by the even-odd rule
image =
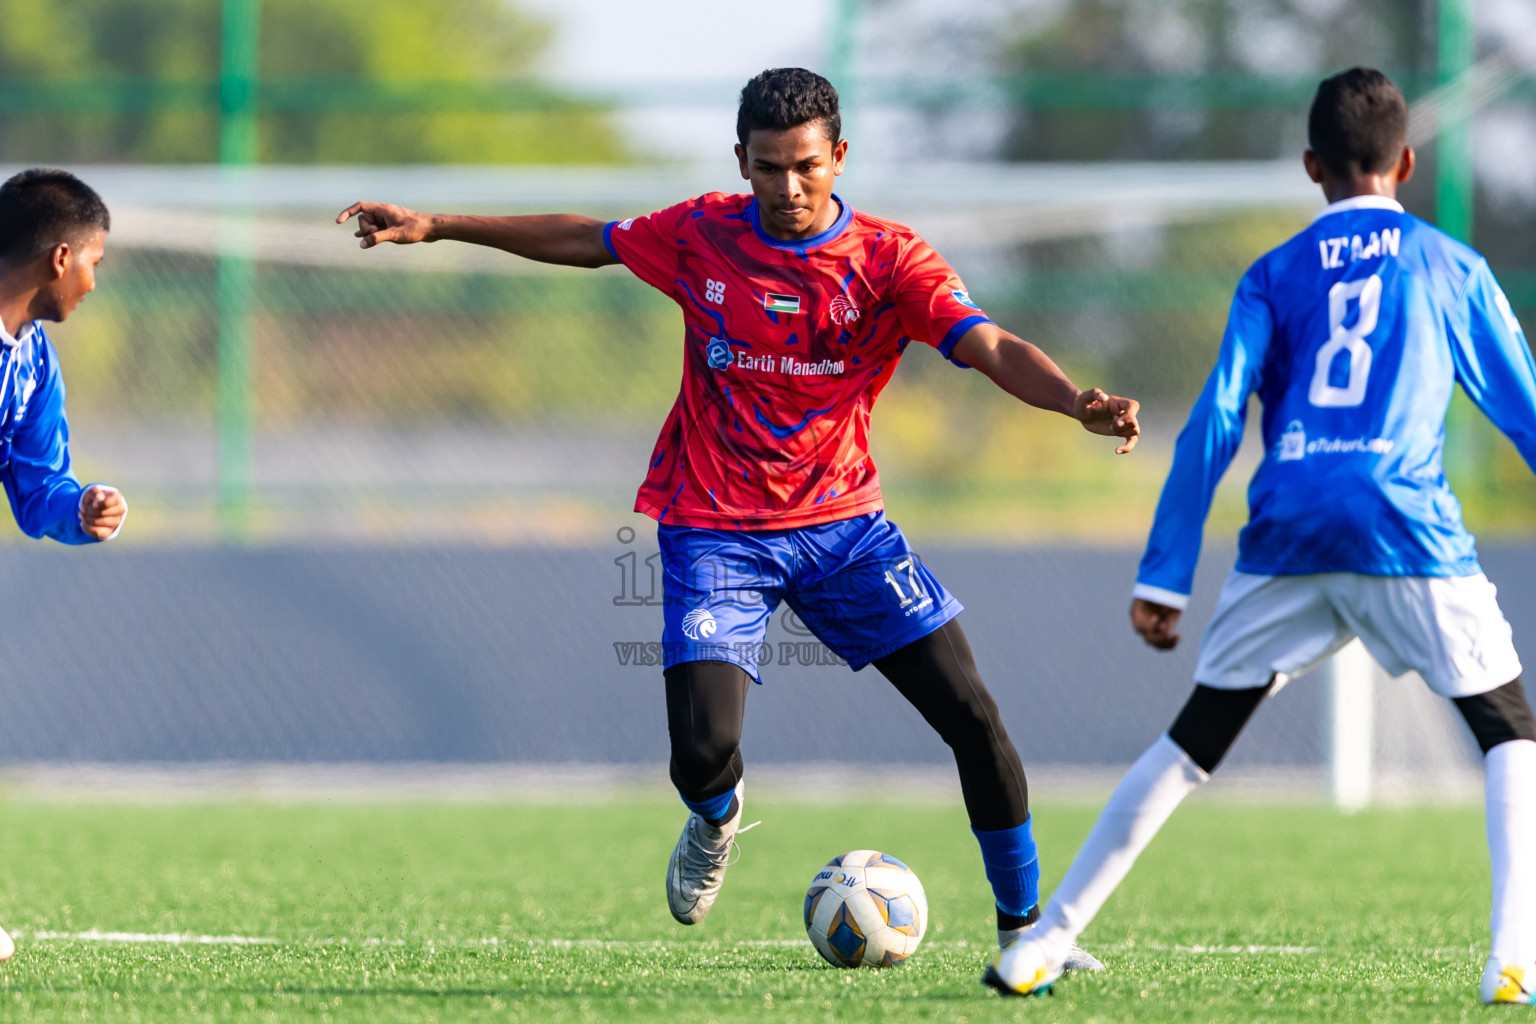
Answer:
[[[1115,786],[1083,849],[1040,912],[1035,929],[1048,947],[1066,955],[1174,808],[1207,778],[1210,775],[1166,734],[1147,748]]]

